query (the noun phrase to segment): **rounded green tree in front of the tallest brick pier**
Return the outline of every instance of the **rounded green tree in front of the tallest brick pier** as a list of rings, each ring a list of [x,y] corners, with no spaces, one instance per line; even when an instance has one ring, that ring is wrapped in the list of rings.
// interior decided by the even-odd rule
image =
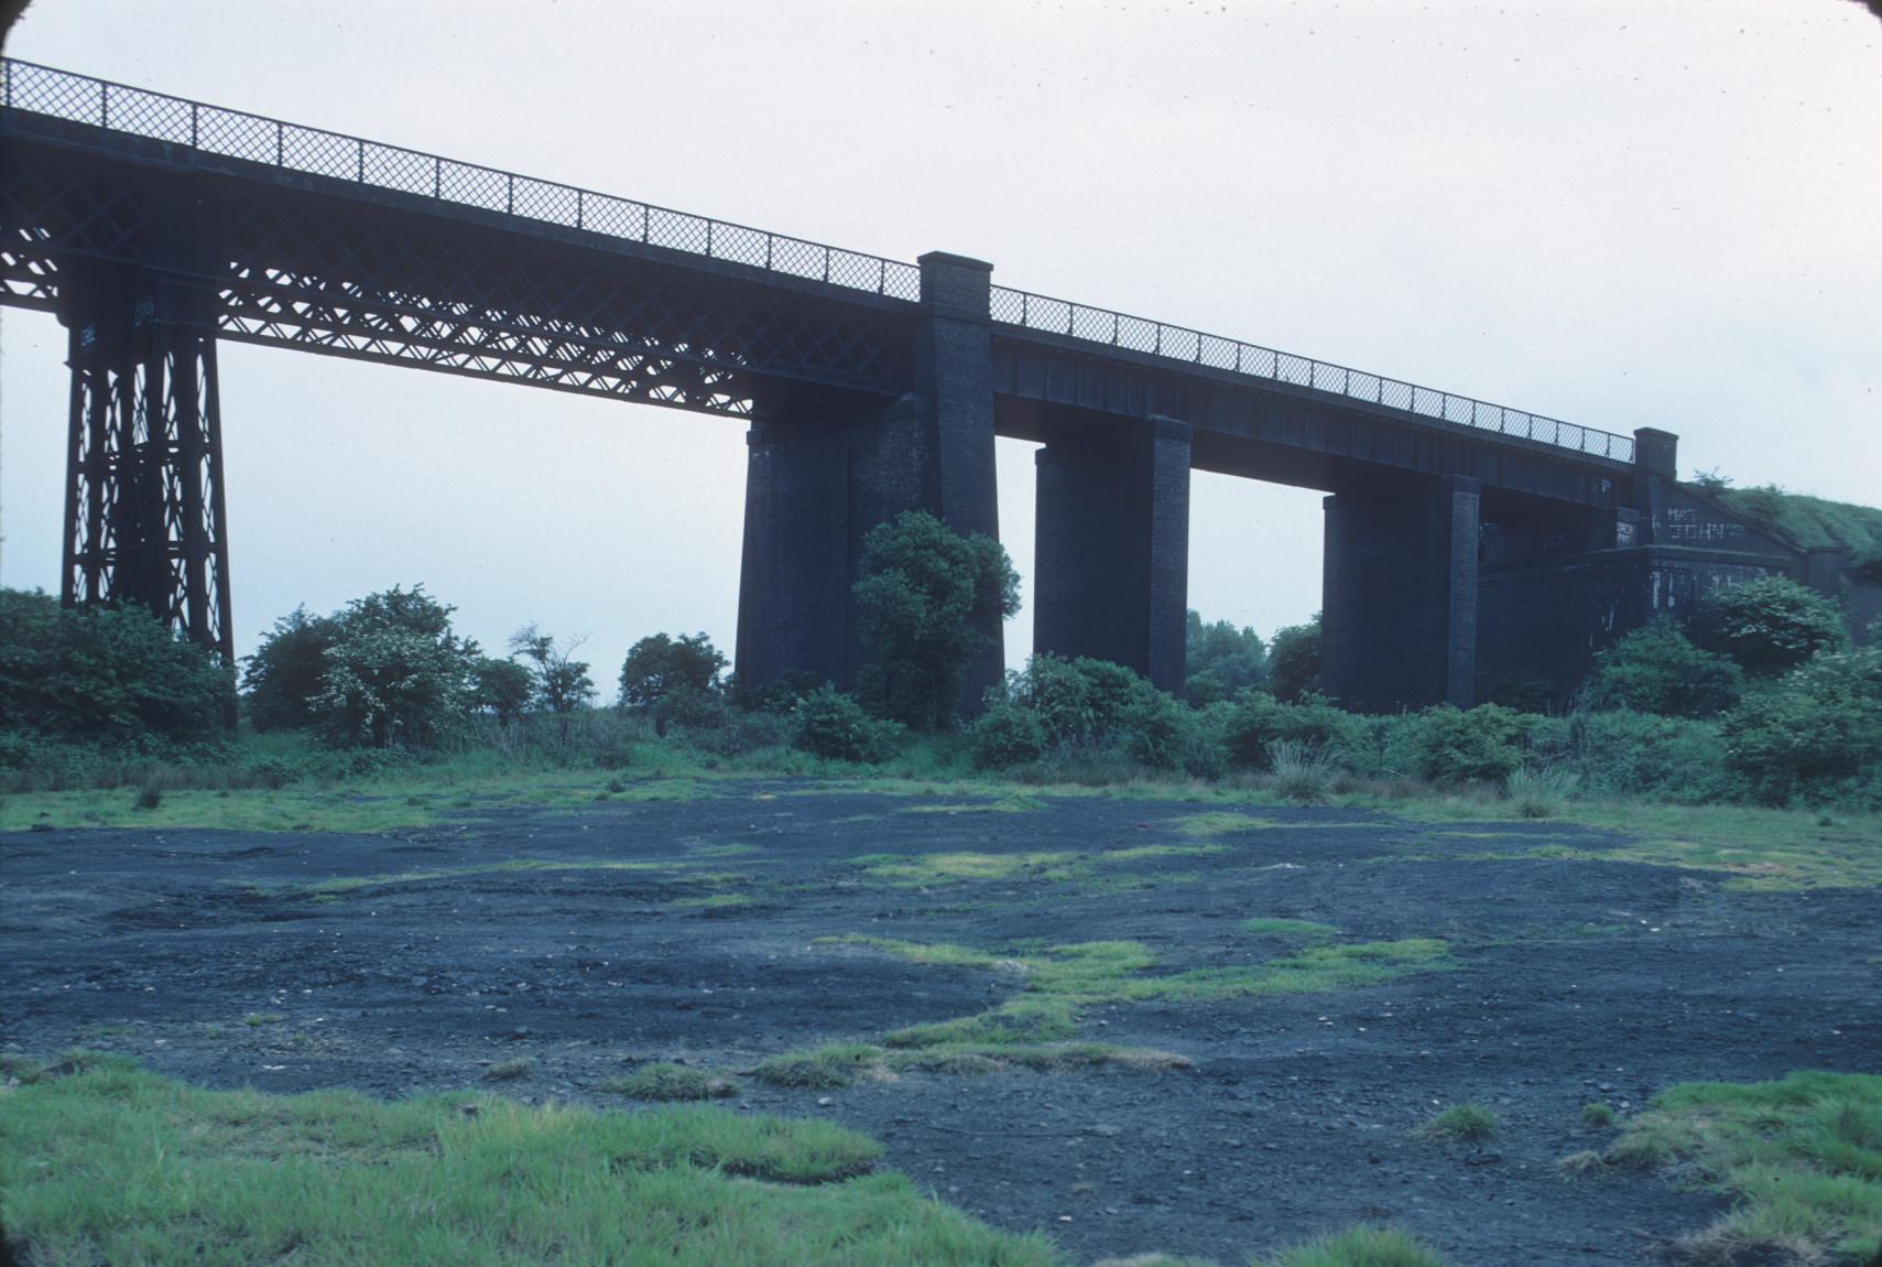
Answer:
[[[879,706],[922,730],[954,723],[967,665],[1020,610],[1020,576],[992,537],[903,510],[862,538],[853,587]]]

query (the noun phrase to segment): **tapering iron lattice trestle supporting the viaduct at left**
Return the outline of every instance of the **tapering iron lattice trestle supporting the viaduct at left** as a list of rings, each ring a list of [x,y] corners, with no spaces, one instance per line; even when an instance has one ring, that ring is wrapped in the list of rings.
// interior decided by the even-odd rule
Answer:
[[[141,297],[72,320],[70,363],[60,597],[149,608],[231,665],[215,339]]]

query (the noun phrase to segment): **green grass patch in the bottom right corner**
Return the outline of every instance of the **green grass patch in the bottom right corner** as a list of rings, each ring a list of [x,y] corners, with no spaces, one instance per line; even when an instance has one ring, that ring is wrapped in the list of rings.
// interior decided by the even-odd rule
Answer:
[[[1605,1160],[1735,1197],[1688,1239],[1694,1256],[1856,1263],[1882,1254],[1882,1075],[1681,1083],[1628,1122]]]

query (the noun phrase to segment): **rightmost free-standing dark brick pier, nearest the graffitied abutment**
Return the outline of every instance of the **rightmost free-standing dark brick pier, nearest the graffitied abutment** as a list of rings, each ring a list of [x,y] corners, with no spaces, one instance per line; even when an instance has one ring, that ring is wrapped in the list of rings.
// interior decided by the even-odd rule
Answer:
[[[1475,702],[1479,482],[1327,499],[1321,687],[1348,708]]]

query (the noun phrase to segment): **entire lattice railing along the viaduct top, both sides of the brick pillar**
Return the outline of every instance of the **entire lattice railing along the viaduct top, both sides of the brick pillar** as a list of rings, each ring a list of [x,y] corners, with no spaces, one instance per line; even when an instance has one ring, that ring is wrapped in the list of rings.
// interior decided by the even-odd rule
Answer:
[[[920,301],[920,267],[913,264],[440,158],[399,145],[380,145],[339,132],[303,128],[265,115],[205,105],[36,62],[0,58],[0,102],[11,109],[186,145],[203,154],[245,158],[288,171],[356,181],[373,188],[437,198],[525,220],[745,264],[845,290]],[[1278,352],[1240,339],[1093,309],[1069,299],[994,286],[990,316],[1007,326],[1101,343],[1250,378],[1332,392],[1402,409],[1423,418],[1538,441],[1594,457],[1634,459],[1634,439],[1626,435],[1453,392],[1438,392],[1346,365],[1316,361],[1308,356]]]

